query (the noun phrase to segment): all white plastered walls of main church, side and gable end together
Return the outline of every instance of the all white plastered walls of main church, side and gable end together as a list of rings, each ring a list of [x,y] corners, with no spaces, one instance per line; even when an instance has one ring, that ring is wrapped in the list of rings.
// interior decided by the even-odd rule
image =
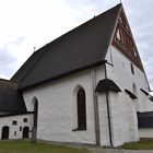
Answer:
[[[110,56],[111,52],[111,56]],[[111,57],[111,58],[110,58]],[[107,51],[107,75],[121,89],[121,93],[109,93],[113,143],[115,146],[123,142],[139,140],[137,111],[152,109],[148,96],[140,89],[149,92],[144,73],[134,64],[134,75],[130,70],[130,61],[113,46]],[[113,60],[111,60],[113,59]],[[104,66],[95,69],[96,84],[105,78]],[[137,86],[138,101],[125,93]],[[72,131],[76,128],[74,89],[81,85],[86,93],[86,131]],[[38,85],[24,91],[27,110],[33,110],[32,101],[38,99],[38,139],[60,142],[79,142],[95,144],[95,121],[93,105],[93,84],[90,70],[78,72],[57,81]],[[151,104],[152,105],[152,104]],[[109,145],[108,118],[105,93],[98,94],[101,144]]]

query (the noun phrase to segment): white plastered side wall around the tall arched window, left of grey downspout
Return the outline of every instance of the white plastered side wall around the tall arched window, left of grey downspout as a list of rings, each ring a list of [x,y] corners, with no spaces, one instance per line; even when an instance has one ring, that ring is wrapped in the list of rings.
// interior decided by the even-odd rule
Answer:
[[[85,90],[87,130],[72,131],[76,127],[74,89]],[[95,144],[94,103],[91,70],[24,91],[27,110],[33,110],[32,99],[38,99],[37,138],[48,141]]]

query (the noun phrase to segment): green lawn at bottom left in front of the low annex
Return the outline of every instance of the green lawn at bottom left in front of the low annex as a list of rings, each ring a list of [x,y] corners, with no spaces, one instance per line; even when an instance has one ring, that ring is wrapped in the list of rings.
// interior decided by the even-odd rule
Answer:
[[[30,141],[0,141],[0,153],[89,153],[89,151]]]

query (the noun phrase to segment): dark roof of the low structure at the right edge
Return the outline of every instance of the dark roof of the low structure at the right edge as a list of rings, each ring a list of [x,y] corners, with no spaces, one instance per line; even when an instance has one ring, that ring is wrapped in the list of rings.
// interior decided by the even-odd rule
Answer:
[[[153,128],[153,111],[138,113],[139,128]]]

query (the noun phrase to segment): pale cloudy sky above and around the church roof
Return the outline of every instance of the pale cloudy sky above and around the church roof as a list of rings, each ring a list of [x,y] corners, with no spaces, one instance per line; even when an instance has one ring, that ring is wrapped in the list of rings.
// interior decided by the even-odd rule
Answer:
[[[120,0],[0,0],[0,78],[10,79],[47,43]],[[121,0],[153,90],[153,0]]]

